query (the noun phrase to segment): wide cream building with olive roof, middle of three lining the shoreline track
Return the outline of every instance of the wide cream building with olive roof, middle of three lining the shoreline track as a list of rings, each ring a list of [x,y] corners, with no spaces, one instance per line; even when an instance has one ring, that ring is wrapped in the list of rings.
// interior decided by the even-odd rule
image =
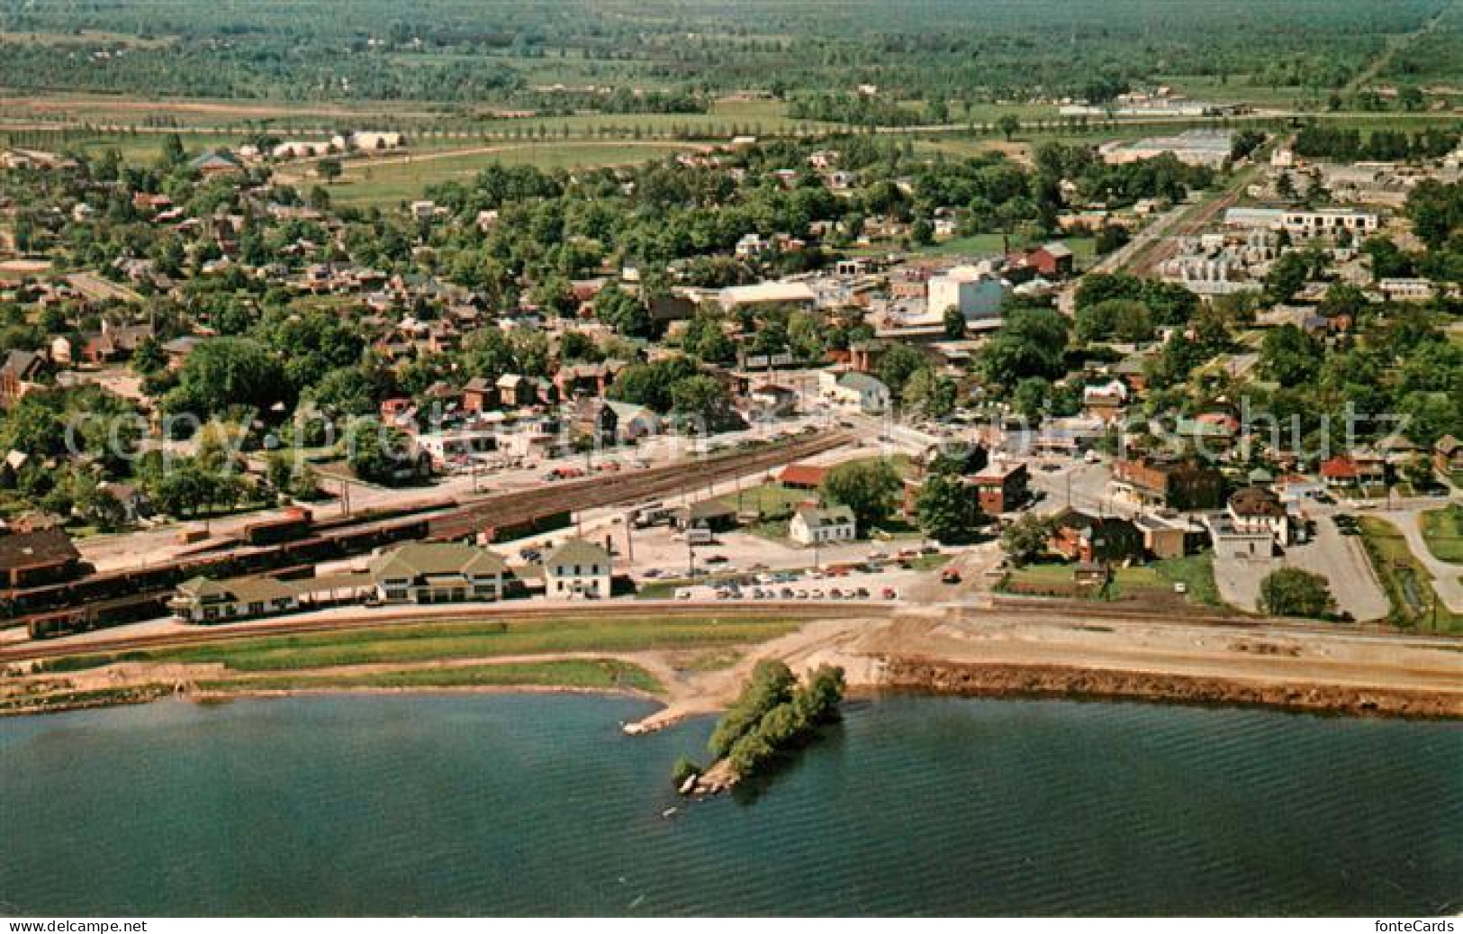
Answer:
[[[415,542],[370,564],[376,594],[386,603],[499,600],[508,565],[474,545]]]

